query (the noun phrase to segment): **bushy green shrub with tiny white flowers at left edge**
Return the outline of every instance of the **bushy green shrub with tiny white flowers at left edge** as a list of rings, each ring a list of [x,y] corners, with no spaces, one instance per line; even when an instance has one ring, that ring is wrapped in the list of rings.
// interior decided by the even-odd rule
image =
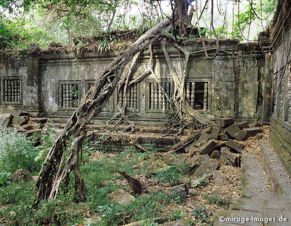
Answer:
[[[29,139],[13,128],[0,129],[0,171],[35,170],[36,155],[37,149]]]

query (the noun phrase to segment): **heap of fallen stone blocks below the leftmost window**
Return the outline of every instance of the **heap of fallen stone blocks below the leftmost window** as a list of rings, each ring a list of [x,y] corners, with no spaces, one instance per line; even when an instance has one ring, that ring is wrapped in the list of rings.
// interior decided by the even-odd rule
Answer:
[[[47,122],[47,118],[34,117],[27,111],[21,111],[12,107],[3,108],[0,111],[0,127],[12,127],[26,138],[33,133],[40,133]]]

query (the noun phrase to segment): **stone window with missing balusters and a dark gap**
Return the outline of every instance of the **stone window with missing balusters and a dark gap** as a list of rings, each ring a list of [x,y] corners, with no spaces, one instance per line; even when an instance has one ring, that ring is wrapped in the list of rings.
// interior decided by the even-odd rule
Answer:
[[[185,82],[186,100],[195,110],[208,110],[208,82]]]

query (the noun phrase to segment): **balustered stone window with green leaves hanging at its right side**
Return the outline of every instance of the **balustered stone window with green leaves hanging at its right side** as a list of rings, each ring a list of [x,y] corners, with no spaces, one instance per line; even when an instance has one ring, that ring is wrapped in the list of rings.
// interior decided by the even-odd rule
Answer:
[[[61,83],[61,107],[76,108],[79,105],[79,83]]]

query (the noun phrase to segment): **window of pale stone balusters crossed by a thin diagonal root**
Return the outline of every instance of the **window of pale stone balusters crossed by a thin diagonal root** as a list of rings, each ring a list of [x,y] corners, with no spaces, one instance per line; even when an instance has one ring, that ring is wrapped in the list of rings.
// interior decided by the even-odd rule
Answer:
[[[171,95],[171,83],[161,82],[168,97]],[[149,83],[149,110],[170,110],[170,103],[157,82]]]

